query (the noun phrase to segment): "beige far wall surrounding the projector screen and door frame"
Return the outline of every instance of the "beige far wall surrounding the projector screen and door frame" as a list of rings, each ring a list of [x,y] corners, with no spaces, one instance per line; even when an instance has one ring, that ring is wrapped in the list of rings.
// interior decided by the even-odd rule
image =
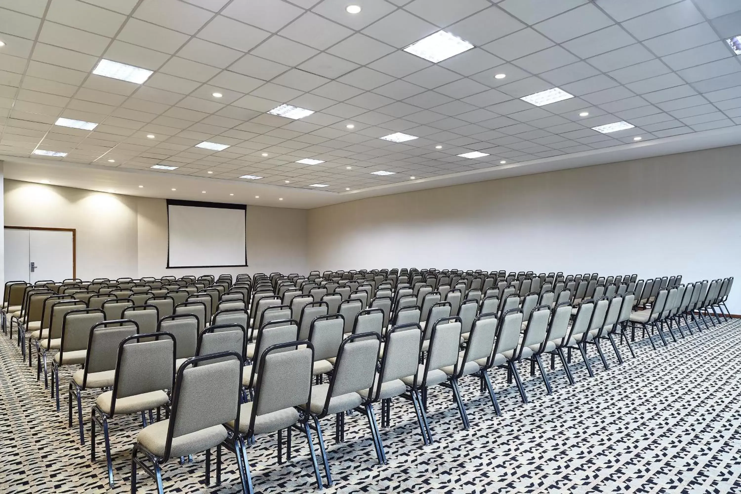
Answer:
[[[308,270],[306,210],[248,206],[249,267],[174,270],[166,268],[165,199],[6,180],[4,207],[8,226],[75,228],[78,278]]]

